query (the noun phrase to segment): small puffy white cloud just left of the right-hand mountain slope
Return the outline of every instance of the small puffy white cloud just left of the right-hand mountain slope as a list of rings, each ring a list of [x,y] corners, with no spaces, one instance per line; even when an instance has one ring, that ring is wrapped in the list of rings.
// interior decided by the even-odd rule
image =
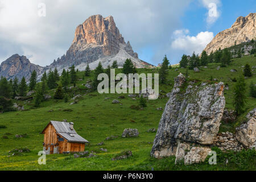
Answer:
[[[189,30],[176,30],[173,34],[173,41],[171,43],[172,49],[182,50],[185,54],[191,55],[201,53],[207,44],[214,38],[213,32],[200,32],[196,36],[190,36]]]

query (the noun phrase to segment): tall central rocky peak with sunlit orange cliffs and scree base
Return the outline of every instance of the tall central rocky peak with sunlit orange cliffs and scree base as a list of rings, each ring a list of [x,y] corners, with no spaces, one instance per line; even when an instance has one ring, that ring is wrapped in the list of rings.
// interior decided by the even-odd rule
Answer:
[[[104,68],[117,60],[119,66],[129,58],[137,68],[144,68],[150,64],[138,59],[138,53],[133,51],[130,42],[119,33],[113,16],[103,18],[102,15],[93,15],[80,24],[75,31],[75,38],[67,53],[54,60],[47,68],[71,67],[84,70],[89,63],[94,69],[101,61]]]

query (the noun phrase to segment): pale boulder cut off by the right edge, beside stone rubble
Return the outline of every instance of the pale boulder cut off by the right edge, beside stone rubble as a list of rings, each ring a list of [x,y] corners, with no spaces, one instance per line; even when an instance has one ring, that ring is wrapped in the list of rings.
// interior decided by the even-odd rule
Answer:
[[[236,129],[236,138],[245,148],[256,149],[256,107],[246,116],[246,123]]]

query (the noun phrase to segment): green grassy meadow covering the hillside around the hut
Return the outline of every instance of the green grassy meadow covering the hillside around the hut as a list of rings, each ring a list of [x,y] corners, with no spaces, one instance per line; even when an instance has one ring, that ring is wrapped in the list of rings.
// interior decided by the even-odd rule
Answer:
[[[232,88],[235,82],[232,78],[238,78],[243,71],[242,66],[250,64],[256,66],[256,57],[244,56],[234,61],[229,67],[217,67],[220,64],[211,63],[208,68],[200,68],[200,73],[189,71],[189,80],[207,81],[211,77],[216,78],[217,82],[224,82],[226,88],[226,108],[233,108]],[[230,69],[236,69],[237,72],[230,72]],[[256,68],[253,73],[256,73]],[[160,85],[160,94],[165,95],[171,92],[174,85],[174,77],[187,69],[172,68],[169,70],[167,84]],[[117,72],[121,72],[118,69]],[[158,69],[138,69],[139,73],[157,73]],[[79,78],[82,78],[84,72],[79,72]],[[99,94],[97,92],[86,93],[86,88],[82,86],[86,80],[92,77],[85,77],[79,81],[76,94],[82,94],[79,102],[75,105],[69,105],[64,100],[54,100],[53,98],[44,101],[39,108],[33,106],[34,101],[20,102],[23,104],[24,111],[13,111],[0,114],[0,125],[6,128],[0,128],[0,171],[2,170],[255,170],[256,155],[255,151],[242,152],[218,152],[217,165],[210,166],[207,162],[193,164],[191,166],[175,165],[175,157],[164,159],[154,159],[150,156],[152,142],[156,133],[147,133],[148,129],[158,128],[163,111],[157,110],[158,107],[166,105],[168,98],[159,98],[158,100],[148,100],[147,107],[143,110],[130,109],[132,105],[138,105],[139,100],[133,100],[128,97],[118,99],[119,94]],[[222,123],[220,132],[230,131],[234,133],[235,128],[240,126],[245,115],[256,106],[256,98],[249,97],[249,85],[254,81],[256,84],[256,75],[246,79],[247,84],[247,104],[245,113],[238,117],[234,123]],[[53,90],[49,94],[53,95]],[[86,93],[86,95],[84,95]],[[70,95],[70,99],[72,98]],[[75,94],[75,95],[76,95]],[[105,99],[109,98],[109,99]],[[120,104],[112,104],[117,99]],[[82,137],[87,139],[90,144],[85,146],[86,151],[96,152],[95,158],[78,158],[73,155],[49,155],[47,156],[46,165],[38,164],[38,152],[43,150],[43,135],[40,134],[49,121],[63,121],[75,123],[75,130]],[[122,132],[126,128],[138,129],[138,138],[122,138]],[[27,134],[24,138],[16,138],[16,134]],[[105,140],[107,137],[117,136],[113,140]],[[97,144],[104,142],[102,146]],[[27,147],[31,152],[22,155],[11,156],[8,158],[9,151],[16,148]],[[103,152],[100,148],[106,148],[108,152]],[[131,150],[133,156],[125,160],[112,161],[111,159],[119,152]],[[229,164],[224,160],[229,159]]]

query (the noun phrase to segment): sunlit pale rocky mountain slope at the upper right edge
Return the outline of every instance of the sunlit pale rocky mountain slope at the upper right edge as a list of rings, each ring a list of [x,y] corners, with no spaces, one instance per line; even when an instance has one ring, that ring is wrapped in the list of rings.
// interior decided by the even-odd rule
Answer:
[[[246,17],[240,16],[231,28],[218,33],[205,48],[208,54],[217,49],[232,47],[235,44],[249,42],[256,39],[256,13]]]

